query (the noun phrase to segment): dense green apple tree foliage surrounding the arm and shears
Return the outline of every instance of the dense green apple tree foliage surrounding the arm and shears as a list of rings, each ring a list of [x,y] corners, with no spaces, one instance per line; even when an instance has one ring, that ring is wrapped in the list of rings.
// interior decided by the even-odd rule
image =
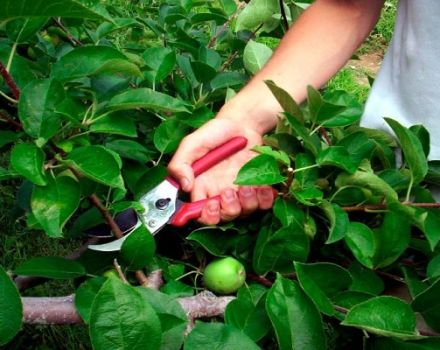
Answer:
[[[305,6],[3,0],[0,147],[10,163],[0,181],[16,186],[16,212],[48,239],[86,241],[88,229],[142,210],[137,199],[166,176],[180,140],[261,68]],[[428,131],[388,118],[393,138],[359,127],[362,105],[347,92],[309,87],[299,106],[267,86],[285,113],[236,182],[273,185],[272,211],[154,238],[141,227],[119,253],[0,267],[0,345],[22,326],[10,277],[26,275],[75,280],[95,349],[438,348],[430,186],[440,170],[427,161]],[[224,318],[197,321],[185,337],[178,300],[201,292],[204,266],[224,256],[244,264],[247,284]],[[158,269],[160,291],[140,286]],[[433,330],[419,331],[416,313]]]

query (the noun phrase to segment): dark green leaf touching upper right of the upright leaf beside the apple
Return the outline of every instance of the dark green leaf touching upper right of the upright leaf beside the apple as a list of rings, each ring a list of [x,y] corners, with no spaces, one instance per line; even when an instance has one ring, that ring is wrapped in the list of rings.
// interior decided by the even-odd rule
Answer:
[[[294,263],[299,284],[318,309],[328,315],[335,314],[330,298],[348,289],[352,279],[347,270],[330,263]]]

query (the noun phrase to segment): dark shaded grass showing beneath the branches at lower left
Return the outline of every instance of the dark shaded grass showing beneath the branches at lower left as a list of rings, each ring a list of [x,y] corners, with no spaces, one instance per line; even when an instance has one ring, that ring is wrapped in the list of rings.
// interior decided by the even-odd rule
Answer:
[[[0,155],[0,166],[6,167],[9,155]],[[0,265],[12,271],[22,262],[36,256],[65,256],[78,246],[69,240],[49,239],[42,231],[26,227],[24,216],[14,219],[16,184],[0,183]],[[26,296],[56,296],[71,294],[71,281],[51,281],[29,289]],[[15,339],[0,349],[90,349],[85,326],[24,326]]]

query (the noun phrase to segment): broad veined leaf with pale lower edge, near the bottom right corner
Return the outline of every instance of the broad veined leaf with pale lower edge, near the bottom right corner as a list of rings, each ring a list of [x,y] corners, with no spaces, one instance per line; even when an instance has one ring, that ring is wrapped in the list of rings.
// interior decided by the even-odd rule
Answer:
[[[416,315],[411,307],[403,300],[390,296],[375,297],[354,306],[342,324],[400,339],[418,336]]]

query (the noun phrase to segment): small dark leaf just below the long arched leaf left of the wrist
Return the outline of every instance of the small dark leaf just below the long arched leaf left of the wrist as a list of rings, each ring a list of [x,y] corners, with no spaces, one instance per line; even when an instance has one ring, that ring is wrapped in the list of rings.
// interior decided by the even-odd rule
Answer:
[[[135,122],[122,113],[112,113],[99,118],[90,126],[90,132],[116,134],[127,137],[137,136]]]

